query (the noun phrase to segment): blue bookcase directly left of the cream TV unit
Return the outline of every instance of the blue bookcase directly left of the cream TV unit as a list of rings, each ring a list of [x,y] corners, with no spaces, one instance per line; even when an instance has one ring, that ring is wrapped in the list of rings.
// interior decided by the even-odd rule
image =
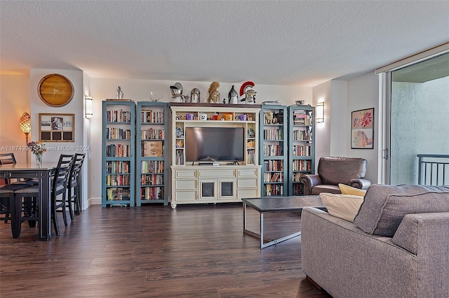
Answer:
[[[135,140],[135,206],[168,205],[168,103],[138,102]]]

